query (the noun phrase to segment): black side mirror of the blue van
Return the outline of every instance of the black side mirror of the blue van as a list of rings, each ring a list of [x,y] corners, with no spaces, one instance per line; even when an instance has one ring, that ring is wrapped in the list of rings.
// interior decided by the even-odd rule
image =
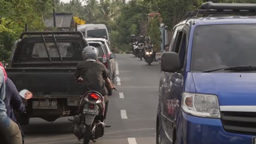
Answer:
[[[176,52],[164,52],[161,58],[161,70],[169,73],[175,73],[181,69],[179,55]]]

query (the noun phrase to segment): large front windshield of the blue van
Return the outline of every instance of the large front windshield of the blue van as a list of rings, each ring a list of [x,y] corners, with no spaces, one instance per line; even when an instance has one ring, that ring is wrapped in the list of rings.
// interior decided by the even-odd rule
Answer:
[[[210,25],[195,28],[191,71],[238,65],[256,66],[256,25]]]

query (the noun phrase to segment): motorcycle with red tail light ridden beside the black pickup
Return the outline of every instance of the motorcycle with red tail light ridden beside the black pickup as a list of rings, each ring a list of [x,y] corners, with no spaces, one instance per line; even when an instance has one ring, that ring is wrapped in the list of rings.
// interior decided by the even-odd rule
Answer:
[[[120,79],[115,77],[114,80],[119,82]],[[104,98],[96,91],[89,91],[80,97],[79,104],[78,115],[74,119],[68,119],[72,122],[73,134],[79,141],[84,139],[84,144],[88,144],[90,140],[96,142],[96,139],[104,135],[104,129],[110,127],[104,123]]]

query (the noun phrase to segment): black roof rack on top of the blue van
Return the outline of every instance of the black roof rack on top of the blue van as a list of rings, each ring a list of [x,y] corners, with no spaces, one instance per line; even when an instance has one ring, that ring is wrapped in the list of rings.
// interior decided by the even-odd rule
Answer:
[[[197,15],[256,15],[256,4],[244,3],[213,3],[207,2],[201,5],[201,8],[190,11],[185,17],[197,17]]]

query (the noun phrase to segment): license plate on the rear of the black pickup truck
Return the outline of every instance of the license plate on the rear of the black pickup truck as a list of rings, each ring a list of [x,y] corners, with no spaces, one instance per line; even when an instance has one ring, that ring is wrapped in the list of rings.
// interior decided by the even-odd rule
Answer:
[[[58,102],[56,100],[50,101],[33,101],[32,102],[32,108],[33,109],[57,109]]]

